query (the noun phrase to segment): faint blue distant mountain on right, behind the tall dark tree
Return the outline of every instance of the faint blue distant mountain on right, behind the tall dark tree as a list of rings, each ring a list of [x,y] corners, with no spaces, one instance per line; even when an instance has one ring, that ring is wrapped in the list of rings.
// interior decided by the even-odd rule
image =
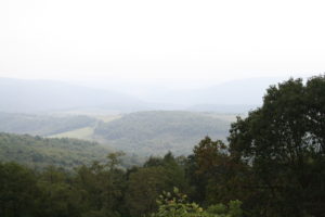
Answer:
[[[261,105],[262,97],[271,85],[282,80],[280,77],[237,79],[198,89],[153,91],[143,100],[174,103],[188,111],[247,113]]]

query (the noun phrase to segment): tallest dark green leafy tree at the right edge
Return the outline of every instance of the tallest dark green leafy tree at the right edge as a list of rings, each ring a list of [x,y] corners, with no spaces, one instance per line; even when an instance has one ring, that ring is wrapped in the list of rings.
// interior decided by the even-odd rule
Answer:
[[[263,105],[232,125],[233,158],[251,167],[263,216],[321,216],[325,207],[325,77],[271,86]]]

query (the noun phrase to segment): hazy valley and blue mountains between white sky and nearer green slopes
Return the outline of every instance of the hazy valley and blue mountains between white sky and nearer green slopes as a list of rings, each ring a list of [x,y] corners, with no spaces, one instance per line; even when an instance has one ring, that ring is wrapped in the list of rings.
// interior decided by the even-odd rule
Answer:
[[[231,122],[259,106],[274,80],[157,90],[140,99],[107,88],[0,78],[0,131],[96,141],[141,156],[188,154],[206,136],[225,141]]]

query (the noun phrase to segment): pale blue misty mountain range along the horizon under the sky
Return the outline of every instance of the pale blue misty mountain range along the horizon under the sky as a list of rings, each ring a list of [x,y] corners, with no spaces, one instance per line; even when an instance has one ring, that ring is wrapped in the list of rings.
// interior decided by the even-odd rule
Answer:
[[[247,78],[191,89],[147,91],[131,97],[123,89],[108,90],[51,80],[0,78],[0,112],[49,113],[64,111],[112,111],[130,113],[180,110],[219,113],[247,113],[261,104],[265,90],[282,78]]]

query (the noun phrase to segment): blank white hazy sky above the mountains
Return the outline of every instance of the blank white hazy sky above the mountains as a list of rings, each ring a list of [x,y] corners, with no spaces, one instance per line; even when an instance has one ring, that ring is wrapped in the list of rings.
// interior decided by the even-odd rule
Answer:
[[[183,88],[316,75],[325,72],[324,8],[313,0],[1,0],[0,76]]]

